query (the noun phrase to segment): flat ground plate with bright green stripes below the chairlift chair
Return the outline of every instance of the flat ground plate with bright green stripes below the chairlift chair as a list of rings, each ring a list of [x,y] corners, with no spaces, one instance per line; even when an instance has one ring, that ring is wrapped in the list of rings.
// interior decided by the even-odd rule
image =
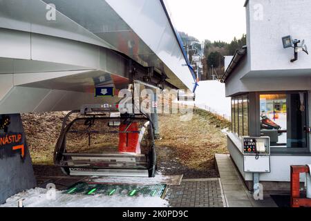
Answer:
[[[85,195],[122,195],[128,197],[149,196],[162,198],[167,184],[93,184],[77,182],[66,189],[68,194]]]

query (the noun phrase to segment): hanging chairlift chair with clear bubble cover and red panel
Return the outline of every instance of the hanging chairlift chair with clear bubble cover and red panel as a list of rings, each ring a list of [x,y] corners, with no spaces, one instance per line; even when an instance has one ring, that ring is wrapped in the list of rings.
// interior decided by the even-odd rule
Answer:
[[[66,175],[154,177],[151,119],[111,106],[82,106],[64,117],[54,162]]]

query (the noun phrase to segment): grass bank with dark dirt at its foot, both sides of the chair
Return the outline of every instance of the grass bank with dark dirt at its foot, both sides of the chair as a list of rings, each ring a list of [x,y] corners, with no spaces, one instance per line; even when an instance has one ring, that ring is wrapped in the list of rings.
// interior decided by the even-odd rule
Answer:
[[[22,115],[36,174],[42,171],[61,174],[52,165],[65,115],[66,112]],[[180,121],[180,117],[180,114],[159,115],[158,170],[164,175],[183,174],[185,178],[217,177],[214,154],[227,153],[226,137],[221,130],[228,128],[229,122],[199,109],[194,109],[191,121]]]

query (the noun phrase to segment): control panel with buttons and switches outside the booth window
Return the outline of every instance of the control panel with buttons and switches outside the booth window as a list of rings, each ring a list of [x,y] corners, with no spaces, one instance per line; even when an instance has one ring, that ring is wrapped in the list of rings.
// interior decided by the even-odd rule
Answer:
[[[270,155],[270,137],[242,137],[243,155]]]

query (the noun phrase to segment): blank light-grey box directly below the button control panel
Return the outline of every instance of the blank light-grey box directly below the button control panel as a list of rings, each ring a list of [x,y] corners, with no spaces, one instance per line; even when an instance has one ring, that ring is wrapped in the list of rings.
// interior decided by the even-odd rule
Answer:
[[[244,172],[270,173],[270,156],[244,155]]]

